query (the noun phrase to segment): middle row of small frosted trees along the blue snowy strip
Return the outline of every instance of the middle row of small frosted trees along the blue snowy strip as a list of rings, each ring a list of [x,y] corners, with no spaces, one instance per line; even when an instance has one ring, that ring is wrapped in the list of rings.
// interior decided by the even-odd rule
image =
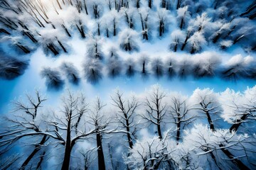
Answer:
[[[242,57],[235,55],[224,64],[220,57],[214,53],[203,52],[193,57],[169,57],[166,60],[161,58],[151,59],[147,55],[141,55],[138,60],[129,58],[121,60],[117,50],[110,50],[109,57],[103,60],[100,50],[95,50],[97,45],[93,45],[93,50],[87,54],[87,60],[83,64],[83,74],[80,74],[74,64],[64,62],[58,68],[43,68],[41,75],[46,78],[46,84],[53,89],[59,89],[65,84],[64,77],[72,84],[78,84],[82,77],[94,84],[102,77],[114,78],[126,75],[132,77],[134,74],[141,74],[147,77],[149,74],[160,78],[162,76],[175,77],[181,79],[186,77],[221,77],[236,81],[237,79],[255,79],[256,69],[253,57]],[[95,52],[97,51],[97,52]]]

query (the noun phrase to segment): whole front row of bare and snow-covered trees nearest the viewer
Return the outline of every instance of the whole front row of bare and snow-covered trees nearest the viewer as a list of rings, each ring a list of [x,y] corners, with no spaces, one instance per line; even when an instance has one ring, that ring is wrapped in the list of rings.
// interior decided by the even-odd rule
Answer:
[[[196,89],[190,97],[159,85],[139,96],[115,90],[108,106],[68,91],[60,106],[44,103],[36,91],[1,116],[1,169],[256,166],[256,86],[243,93]]]

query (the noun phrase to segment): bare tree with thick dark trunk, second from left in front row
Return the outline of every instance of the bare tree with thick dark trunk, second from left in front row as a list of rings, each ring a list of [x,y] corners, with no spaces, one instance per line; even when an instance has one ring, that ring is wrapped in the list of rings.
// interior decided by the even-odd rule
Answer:
[[[76,143],[85,140],[88,135],[95,132],[95,128],[85,128],[85,113],[88,111],[88,103],[84,94],[73,94],[68,91],[62,98],[63,108],[60,113],[53,113],[48,120],[51,125],[53,137],[59,145],[64,147],[64,157],[61,169],[69,169],[71,153]]]

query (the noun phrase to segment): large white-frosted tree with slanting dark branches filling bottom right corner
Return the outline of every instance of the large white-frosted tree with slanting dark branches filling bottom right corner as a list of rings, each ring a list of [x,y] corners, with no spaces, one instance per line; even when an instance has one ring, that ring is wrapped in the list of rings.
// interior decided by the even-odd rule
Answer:
[[[253,138],[248,135],[236,135],[229,130],[212,131],[207,126],[195,125],[186,131],[183,139],[183,157],[186,156],[187,161],[181,161],[181,169],[195,166],[202,169],[250,169],[253,165],[244,162],[248,163],[254,159]],[[243,145],[247,145],[247,149]]]

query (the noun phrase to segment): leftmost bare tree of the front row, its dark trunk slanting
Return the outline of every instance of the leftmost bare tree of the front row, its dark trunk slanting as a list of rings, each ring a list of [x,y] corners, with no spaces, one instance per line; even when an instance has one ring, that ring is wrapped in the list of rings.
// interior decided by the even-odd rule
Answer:
[[[40,135],[44,130],[43,127],[41,127],[41,123],[38,123],[41,117],[40,111],[45,101],[45,96],[42,96],[40,92],[36,90],[35,96],[27,94],[25,101],[21,99],[14,101],[14,110],[12,111],[14,115],[5,118],[6,125],[4,125],[4,129],[1,131],[0,135],[0,154],[5,154],[11,147],[18,145],[19,141],[25,142],[29,137],[33,137],[33,139],[36,140],[32,152],[26,157],[19,157],[22,160],[20,169],[25,169],[32,159],[36,159],[36,154],[44,147],[49,139],[48,135]],[[37,133],[38,137],[36,136]]]

